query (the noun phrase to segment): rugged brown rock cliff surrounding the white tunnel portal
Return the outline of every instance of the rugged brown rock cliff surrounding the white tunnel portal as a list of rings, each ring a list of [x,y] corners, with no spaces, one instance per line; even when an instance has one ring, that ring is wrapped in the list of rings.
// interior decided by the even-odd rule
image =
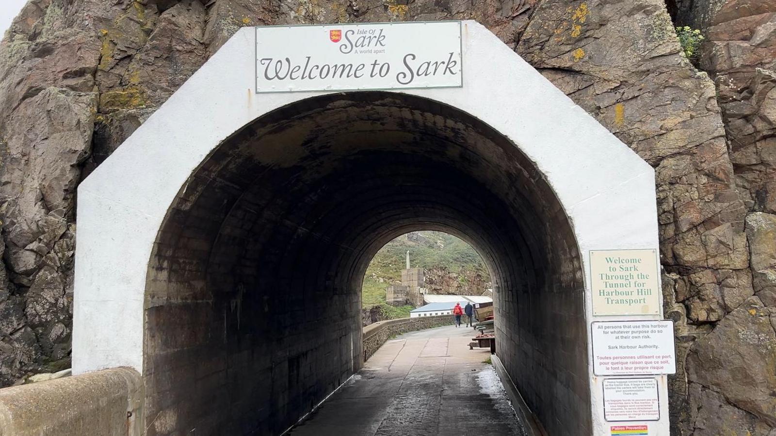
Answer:
[[[67,364],[75,186],[237,29],[476,19],[656,169],[674,434],[772,436],[776,2],[669,3],[706,72],[660,0],[29,2],[0,43],[0,384]]]

